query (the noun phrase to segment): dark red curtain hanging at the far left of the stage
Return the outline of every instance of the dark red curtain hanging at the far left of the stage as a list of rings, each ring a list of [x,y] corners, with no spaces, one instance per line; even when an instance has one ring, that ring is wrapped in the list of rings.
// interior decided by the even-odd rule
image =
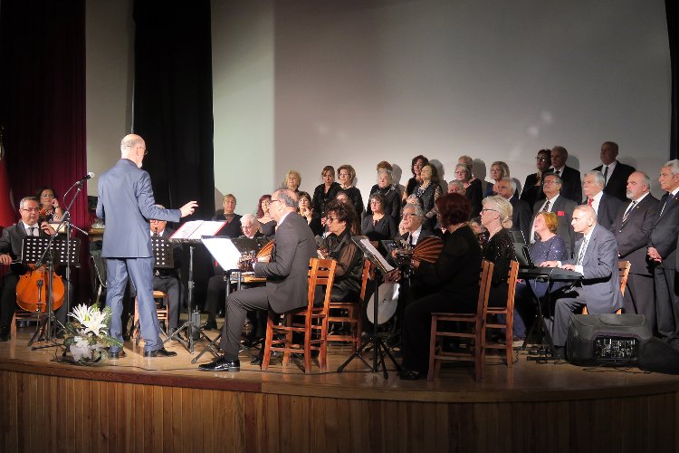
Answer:
[[[63,192],[87,172],[84,0],[2,0],[0,67],[0,125],[14,206],[51,186],[65,207],[71,195],[63,199]],[[87,229],[88,220],[84,188],[72,222]],[[84,238],[81,261],[87,250]],[[82,294],[89,289],[84,264],[73,282],[81,299],[89,295]]]

